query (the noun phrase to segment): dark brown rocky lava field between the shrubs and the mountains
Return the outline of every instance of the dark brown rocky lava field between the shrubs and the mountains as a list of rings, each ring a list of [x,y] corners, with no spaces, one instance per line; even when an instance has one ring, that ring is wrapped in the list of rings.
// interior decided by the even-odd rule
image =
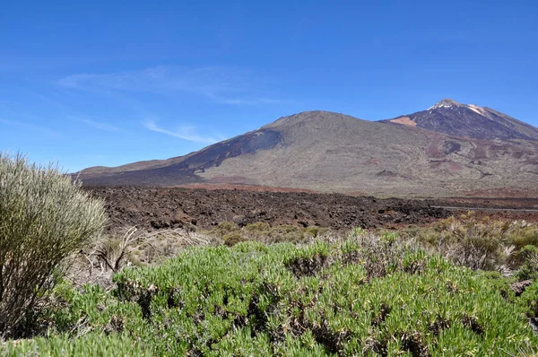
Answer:
[[[335,230],[421,224],[447,217],[431,201],[307,192],[253,192],[185,187],[91,187],[106,202],[109,229],[133,226],[146,230],[194,224],[211,228],[223,221],[244,225],[316,225]]]

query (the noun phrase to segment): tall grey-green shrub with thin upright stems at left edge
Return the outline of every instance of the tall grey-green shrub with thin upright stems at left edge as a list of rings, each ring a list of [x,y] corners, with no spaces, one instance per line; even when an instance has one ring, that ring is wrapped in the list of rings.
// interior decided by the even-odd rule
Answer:
[[[17,335],[62,261],[100,232],[106,214],[55,167],[0,153],[0,222],[0,335]]]

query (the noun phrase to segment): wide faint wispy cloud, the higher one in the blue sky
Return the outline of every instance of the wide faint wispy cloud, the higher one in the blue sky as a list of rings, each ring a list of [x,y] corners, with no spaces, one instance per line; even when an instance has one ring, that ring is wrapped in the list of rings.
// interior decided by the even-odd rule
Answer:
[[[87,91],[194,93],[206,100],[230,105],[281,102],[260,93],[268,82],[249,71],[221,66],[186,69],[161,65],[111,74],[73,74],[57,83],[65,88]]]

